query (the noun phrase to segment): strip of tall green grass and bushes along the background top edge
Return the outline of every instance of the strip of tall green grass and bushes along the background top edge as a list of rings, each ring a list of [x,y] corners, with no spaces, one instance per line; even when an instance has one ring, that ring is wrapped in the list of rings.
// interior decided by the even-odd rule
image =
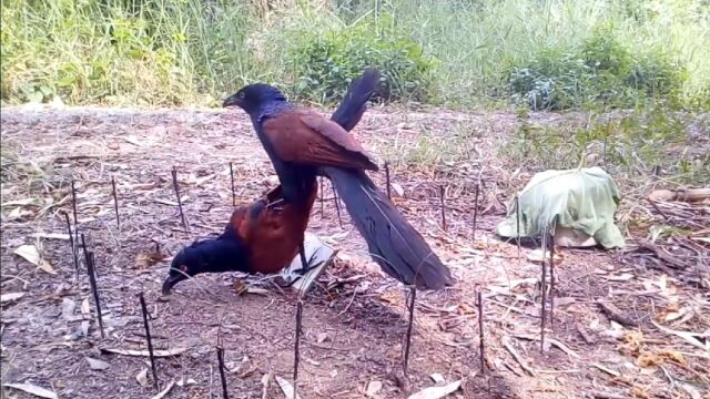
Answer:
[[[257,3],[3,1],[2,101],[213,105],[261,80],[328,104],[376,65],[400,102],[710,109],[707,0]]]

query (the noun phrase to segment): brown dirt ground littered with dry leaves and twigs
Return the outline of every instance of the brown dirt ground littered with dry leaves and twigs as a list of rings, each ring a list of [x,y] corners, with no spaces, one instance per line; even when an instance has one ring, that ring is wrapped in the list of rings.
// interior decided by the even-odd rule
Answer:
[[[393,201],[452,268],[457,284],[417,293],[405,376],[407,291],[364,254],[345,211],[341,227],[324,184],[308,231],[341,252],[304,306],[302,398],[406,398],[437,386],[433,374],[444,380],[439,386],[460,381],[450,395],[458,398],[710,398],[708,290],[630,249],[559,249],[556,304],[541,348],[540,265],[528,259],[535,248],[519,249],[494,235],[511,193],[531,176],[496,160],[498,143],[515,125],[515,116],[506,113],[366,113],[354,134],[381,161],[393,161]],[[423,141],[423,132],[440,141]],[[429,157],[462,135],[466,147],[453,161]],[[230,398],[284,397],[275,378],[293,378],[296,300],[291,289],[263,276],[224,274],[183,282],[168,297],[160,293],[175,252],[219,234],[229,219],[230,162],[237,203],[275,185],[245,115],[4,108],[2,160],[3,385],[42,387],[59,398],[155,395],[148,357],[108,351],[145,349],[142,291],[155,349],[175,352],[155,361],[161,389],[174,382],[165,397],[222,397],[219,332]],[[173,166],[189,233],[178,214]],[[372,175],[384,187],[384,173]],[[97,257],[105,338],[97,325],[83,254],[77,275],[70,243],[61,236],[64,214],[73,215],[72,177],[79,229]],[[484,186],[474,239],[479,177]],[[440,186],[446,190],[445,229]],[[14,255],[22,245],[38,247],[53,274],[45,264],[36,267]],[[701,275],[707,272],[707,264],[698,266]],[[240,282],[265,293],[240,294]],[[477,291],[484,297],[485,372]],[[138,377],[146,370],[146,378]],[[10,387],[2,391],[4,398],[33,397]]]

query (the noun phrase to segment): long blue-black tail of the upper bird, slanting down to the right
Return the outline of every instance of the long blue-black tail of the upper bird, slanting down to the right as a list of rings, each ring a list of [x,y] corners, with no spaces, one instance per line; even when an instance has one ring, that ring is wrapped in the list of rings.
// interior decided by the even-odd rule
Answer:
[[[453,284],[449,269],[365,172],[335,167],[321,172],[333,182],[373,259],[385,273],[422,289]]]

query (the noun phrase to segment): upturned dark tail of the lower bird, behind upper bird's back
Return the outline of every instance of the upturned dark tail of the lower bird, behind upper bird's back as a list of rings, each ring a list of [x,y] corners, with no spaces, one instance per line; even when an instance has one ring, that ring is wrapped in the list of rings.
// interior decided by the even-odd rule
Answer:
[[[377,90],[379,83],[379,72],[375,69],[368,69],[363,74],[351,83],[347,89],[343,102],[333,112],[331,120],[339,124],[347,132],[359,122],[367,109],[367,101],[371,95]]]

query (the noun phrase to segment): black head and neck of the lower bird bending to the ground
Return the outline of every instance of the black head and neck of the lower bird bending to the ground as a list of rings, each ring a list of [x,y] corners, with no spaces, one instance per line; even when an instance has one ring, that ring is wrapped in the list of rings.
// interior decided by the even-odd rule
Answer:
[[[173,258],[163,282],[163,295],[170,294],[175,284],[197,274],[229,270],[248,270],[248,255],[240,241],[211,238],[195,242]]]

